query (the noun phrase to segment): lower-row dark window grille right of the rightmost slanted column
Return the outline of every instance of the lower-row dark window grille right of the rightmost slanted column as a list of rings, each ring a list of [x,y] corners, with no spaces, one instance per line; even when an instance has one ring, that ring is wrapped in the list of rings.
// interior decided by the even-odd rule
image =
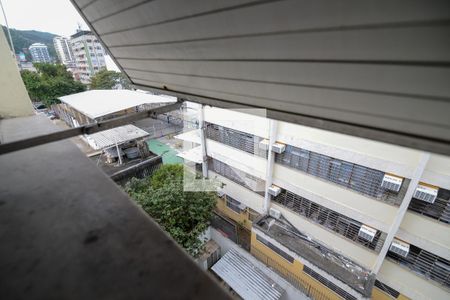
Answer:
[[[410,245],[406,257],[391,251],[387,256],[424,277],[450,287],[450,261],[428,251]]]

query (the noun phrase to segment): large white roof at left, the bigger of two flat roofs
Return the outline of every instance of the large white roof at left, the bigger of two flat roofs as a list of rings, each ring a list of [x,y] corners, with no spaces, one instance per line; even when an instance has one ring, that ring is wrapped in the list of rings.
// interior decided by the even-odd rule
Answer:
[[[59,97],[59,100],[95,119],[142,104],[173,103],[177,98],[130,90],[92,90]]]

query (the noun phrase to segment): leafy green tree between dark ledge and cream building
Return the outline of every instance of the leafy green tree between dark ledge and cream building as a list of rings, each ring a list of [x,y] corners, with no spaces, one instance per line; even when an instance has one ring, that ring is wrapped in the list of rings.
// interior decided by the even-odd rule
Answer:
[[[150,178],[133,178],[127,193],[192,256],[201,250],[199,236],[208,228],[216,196],[212,192],[185,192],[182,165],[163,165]]]

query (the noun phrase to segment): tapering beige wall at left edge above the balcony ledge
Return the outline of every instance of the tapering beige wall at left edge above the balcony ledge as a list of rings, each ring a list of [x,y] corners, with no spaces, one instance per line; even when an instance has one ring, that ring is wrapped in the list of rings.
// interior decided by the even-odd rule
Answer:
[[[0,118],[33,114],[30,97],[20,77],[3,30],[0,30]]]

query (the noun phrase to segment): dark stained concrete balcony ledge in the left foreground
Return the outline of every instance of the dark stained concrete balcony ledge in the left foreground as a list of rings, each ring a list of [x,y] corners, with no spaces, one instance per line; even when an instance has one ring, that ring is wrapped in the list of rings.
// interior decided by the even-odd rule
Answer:
[[[2,143],[55,131],[0,120]],[[0,156],[4,299],[228,299],[70,141]]]

